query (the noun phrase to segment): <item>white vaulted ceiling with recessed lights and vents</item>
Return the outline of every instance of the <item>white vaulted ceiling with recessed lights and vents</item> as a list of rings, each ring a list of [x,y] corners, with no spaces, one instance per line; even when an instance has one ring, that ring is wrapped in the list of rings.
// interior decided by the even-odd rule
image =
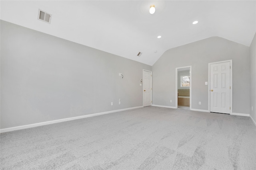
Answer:
[[[1,20],[149,65],[168,49],[212,36],[250,46],[256,32],[255,0],[1,0],[0,6]],[[50,24],[37,19],[39,8],[52,14]]]

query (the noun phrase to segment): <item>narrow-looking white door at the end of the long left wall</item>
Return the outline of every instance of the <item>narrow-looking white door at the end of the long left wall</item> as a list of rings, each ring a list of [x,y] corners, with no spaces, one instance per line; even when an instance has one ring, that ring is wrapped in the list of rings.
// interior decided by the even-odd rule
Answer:
[[[152,94],[152,72],[143,70],[143,106],[151,106],[151,94]]]

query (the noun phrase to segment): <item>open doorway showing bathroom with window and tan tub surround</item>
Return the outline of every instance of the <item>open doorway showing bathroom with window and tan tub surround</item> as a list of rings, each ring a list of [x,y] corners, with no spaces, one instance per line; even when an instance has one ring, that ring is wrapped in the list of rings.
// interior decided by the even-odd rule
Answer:
[[[176,108],[191,109],[192,74],[191,66],[176,68]]]

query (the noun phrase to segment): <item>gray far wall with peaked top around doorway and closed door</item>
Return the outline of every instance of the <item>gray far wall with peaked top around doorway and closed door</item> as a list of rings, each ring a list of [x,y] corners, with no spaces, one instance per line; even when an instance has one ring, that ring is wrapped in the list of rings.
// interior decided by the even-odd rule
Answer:
[[[208,63],[232,59],[233,112],[250,113],[249,51],[249,47],[220,37],[169,49],[152,66],[153,104],[175,107],[175,69],[191,65],[192,109],[208,110],[208,86],[204,83],[208,82]]]

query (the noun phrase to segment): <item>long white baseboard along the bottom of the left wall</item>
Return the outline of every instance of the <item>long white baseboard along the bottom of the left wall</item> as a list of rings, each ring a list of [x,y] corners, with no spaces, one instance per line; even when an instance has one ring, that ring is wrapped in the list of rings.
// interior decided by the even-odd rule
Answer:
[[[49,125],[49,124],[53,124],[53,123],[60,123],[60,122],[63,122],[63,121],[82,119],[82,118],[86,118],[86,117],[93,117],[93,116],[98,116],[98,115],[104,115],[104,114],[114,113],[114,112],[118,112],[118,111],[125,111],[125,110],[130,110],[130,109],[138,109],[138,108],[141,108],[141,107],[143,107],[143,106],[130,107],[130,108],[126,108],[126,109],[112,110],[112,111],[106,111],[106,112],[102,112],[102,113],[94,113],[94,114],[90,114],[90,115],[83,115],[83,116],[77,116],[77,117],[69,117],[69,118],[58,119],[58,120],[53,120],[53,121],[45,121],[45,122],[34,123],[34,124],[30,124],[30,125],[10,127],[10,128],[0,129],[0,133],[16,131],[16,130],[20,130],[20,129],[27,129],[27,128],[31,128],[31,127],[38,127],[38,126],[43,126],[43,125]]]

